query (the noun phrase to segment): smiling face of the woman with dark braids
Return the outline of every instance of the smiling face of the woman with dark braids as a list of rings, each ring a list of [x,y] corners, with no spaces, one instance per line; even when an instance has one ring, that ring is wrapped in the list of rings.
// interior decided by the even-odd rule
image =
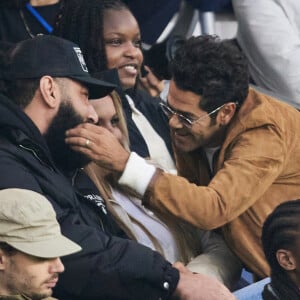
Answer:
[[[139,26],[127,9],[105,11],[103,37],[108,68],[116,68],[122,88],[135,85],[143,62]]]

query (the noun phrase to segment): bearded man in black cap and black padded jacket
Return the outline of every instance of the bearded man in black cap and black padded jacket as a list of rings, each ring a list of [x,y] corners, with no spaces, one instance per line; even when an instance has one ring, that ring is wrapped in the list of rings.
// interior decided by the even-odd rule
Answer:
[[[112,85],[90,77],[76,44],[53,36],[20,42],[9,52],[3,73],[8,97],[1,95],[0,102],[0,189],[22,188],[45,195],[62,232],[82,247],[63,260],[66,271],[55,296],[233,299],[216,280],[193,274],[179,263],[172,266],[159,253],[115,237],[113,229],[118,226],[105,206],[101,213],[97,209],[101,197],[87,201],[57,168],[54,161],[66,171],[86,163],[66,147],[64,131],[82,122],[97,123],[88,99],[112,90]],[[82,146],[89,145],[90,140],[84,139]]]

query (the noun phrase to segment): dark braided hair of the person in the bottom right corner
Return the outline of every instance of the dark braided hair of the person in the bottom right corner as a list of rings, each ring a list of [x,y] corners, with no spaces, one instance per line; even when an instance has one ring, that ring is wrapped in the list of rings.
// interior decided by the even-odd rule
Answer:
[[[279,249],[295,249],[295,242],[299,237],[300,199],[284,202],[268,216],[262,230],[263,249],[271,267],[271,287],[279,299],[300,299],[299,287],[291,280],[287,271],[280,266],[276,257]],[[278,298],[265,287],[263,299]]]

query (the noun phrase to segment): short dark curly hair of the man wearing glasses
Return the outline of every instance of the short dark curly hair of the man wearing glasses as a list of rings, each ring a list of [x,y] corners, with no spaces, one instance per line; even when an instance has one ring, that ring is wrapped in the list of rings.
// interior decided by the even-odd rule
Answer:
[[[248,64],[232,40],[203,35],[187,39],[175,53],[171,73],[177,87],[202,97],[210,111],[226,102],[244,102],[249,88]]]

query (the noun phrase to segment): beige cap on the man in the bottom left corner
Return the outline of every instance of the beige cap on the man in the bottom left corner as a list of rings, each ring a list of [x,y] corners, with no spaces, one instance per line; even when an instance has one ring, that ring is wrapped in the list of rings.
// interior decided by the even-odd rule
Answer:
[[[81,250],[61,234],[55,211],[47,198],[23,189],[0,191],[0,241],[43,258]]]

